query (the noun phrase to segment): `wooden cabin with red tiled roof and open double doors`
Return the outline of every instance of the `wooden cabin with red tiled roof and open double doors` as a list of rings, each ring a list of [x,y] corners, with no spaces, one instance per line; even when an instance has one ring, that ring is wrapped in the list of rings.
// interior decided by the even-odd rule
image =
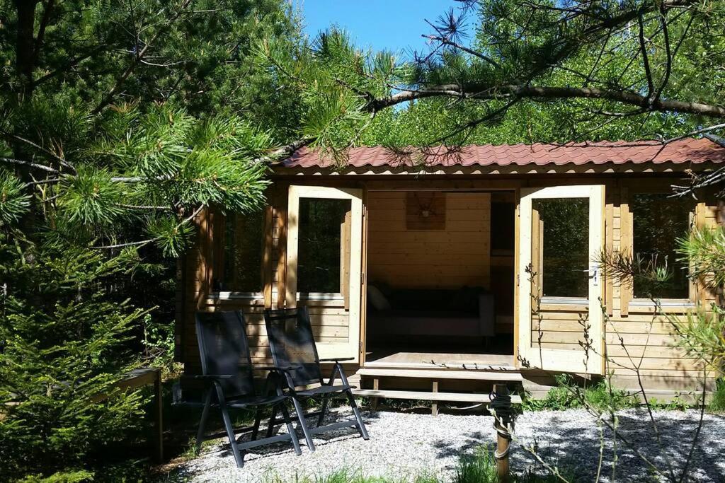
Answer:
[[[309,308],[320,357],[351,357],[362,395],[475,401],[494,382],[534,395],[552,374],[650,395],[701,388],[703,368],[655,314],[717,294],[688,277],[676,238],[722,222],[713,193],[671,198],[725,163],[718,140],[466,146],[411,159],[307,148],[273,167],[268,206],[210,210],[183,260],[178,360],[199,371],[194,312],[242,309],[270,362],[262,311]],[[664,286],[604,277],[602,253],[666,261]],[[655,293],[653,293],[653,290]],[[583,346],[587,346],[585,350]],[[439,394],[440,395],[437,395]]]

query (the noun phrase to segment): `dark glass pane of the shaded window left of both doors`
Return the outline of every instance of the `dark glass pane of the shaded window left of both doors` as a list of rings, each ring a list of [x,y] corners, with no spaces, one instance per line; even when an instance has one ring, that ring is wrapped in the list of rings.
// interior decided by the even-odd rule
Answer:
[[[225,217],[224,274],[220,290],[262,291],[264,212]]]

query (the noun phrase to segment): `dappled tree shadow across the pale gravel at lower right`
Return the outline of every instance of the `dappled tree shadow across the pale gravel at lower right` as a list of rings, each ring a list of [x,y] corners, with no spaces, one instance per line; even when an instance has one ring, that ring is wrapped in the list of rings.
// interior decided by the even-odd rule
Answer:
[[[618,438],[613,440],[609,429],[600,428],[587,418],[576,424],[566,411],[549,416],[541,427],[520,428],[512,447],[512,466],[515,471],[541,471],[536,461],[524,447],[533,446],[537,454],[552,466],[566,469],[575,481],[593,481],[602,448],[602,480],[610,481],[614,450],[616,445],[616,480],[652,482],[657,481],[657,471],[652,469],[635,453],[639,451],[648,461],[657,466],[663,474],[672,471],[675,481],[680,480],[687,455],[692,446],[699,424],[699,413],[668,411],[655,413],[659,441],[647,411],[626,411],[618,414]],[[725,462],[722,461],[723,440],[725,440],[725,419],[720,416],[706,416],[703,427],[692,453],[689,464],[689,481],[725,482]],[[473,455],[480,445],[494,445],[494,429],[481,427],[466,435],[463,446],[460,443],[439,440],[434,445],[437,458],[452,455]],[[634,448],[634,450],[632,449]],[[662,448],[660,450],[660,448]],[[688,480],[685,480],[688,481]]]

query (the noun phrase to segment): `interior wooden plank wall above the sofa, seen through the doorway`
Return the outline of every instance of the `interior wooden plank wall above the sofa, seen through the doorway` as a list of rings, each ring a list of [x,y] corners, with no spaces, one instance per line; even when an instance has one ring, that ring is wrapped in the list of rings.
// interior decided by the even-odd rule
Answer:
[[[405,192],[368,194],[368,280],[392,287],[491,285],[490,193],[445,193],[444,230],[407,230]]]

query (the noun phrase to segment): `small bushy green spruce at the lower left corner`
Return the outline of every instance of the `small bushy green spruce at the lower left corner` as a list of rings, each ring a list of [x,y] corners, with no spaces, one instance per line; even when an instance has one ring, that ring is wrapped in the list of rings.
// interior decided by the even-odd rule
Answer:
[[[107,300],[124,259],[49,246],[0,235],[0,481],[87,469],[143,402],[113,386],[138,361],[125,342],[144,315]]]

